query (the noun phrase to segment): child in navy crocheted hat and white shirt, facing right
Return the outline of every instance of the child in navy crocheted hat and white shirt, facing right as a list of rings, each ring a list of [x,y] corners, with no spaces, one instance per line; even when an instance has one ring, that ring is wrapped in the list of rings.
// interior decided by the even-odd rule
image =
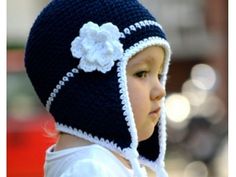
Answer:
[[[46,177],[167,177],[165,82],[170,47],[137,0],[52,0],[25,66],[60,132]],[[144,166],[143,166],[144,165]]]

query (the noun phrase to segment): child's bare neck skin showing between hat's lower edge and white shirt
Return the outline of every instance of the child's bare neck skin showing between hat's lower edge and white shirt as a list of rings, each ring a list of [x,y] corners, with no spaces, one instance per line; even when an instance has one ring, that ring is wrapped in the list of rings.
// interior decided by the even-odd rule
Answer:
[[[54,147],[54,151],[60,151],[63,149],[67,148],[72,148],[72,147],[82,147],[82,146],[88,146],[92,145],[94,143],[91,143],[85,139],[69,135],[66,133],[60,133],[58,141]],[[112,151],[111,151],[112,152]],[[123,165],[125,165],[127,168],[131,169],[131,165],[128,160],[126,160],[124,157],[122,157],[119,153],[112,152],[116,158],[121,161]]]

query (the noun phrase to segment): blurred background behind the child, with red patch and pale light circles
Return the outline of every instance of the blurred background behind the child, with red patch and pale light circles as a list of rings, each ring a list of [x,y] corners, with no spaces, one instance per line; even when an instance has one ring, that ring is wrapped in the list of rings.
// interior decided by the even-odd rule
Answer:
[[[170,177],[228,176],[227,0],[142,0],[173,56],[167,82]],[[30,27],[48,0],[7,0],[7,176],[42,177],[52,117],[24,69]],[[46,131],[45,131],[46,130]],[[150,176],[152,174],[150,173]]]

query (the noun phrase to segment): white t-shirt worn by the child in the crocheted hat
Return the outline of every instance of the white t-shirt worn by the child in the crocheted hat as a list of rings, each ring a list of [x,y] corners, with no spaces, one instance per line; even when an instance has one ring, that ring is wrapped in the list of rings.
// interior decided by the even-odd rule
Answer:
[[[97,144],[46,151],[45,177],[133,177],[133,170]],[[142,170],[145,172],[145,168]]]

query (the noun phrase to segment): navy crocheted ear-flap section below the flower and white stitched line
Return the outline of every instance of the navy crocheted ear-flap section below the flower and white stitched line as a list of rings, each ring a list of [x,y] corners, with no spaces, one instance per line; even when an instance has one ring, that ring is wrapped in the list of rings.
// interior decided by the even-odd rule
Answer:
[[[131,137],[120,103],[116,69],[106,74],[80,71],[78,77],[71,78],[51,108],[57,122],[129,147]]]

